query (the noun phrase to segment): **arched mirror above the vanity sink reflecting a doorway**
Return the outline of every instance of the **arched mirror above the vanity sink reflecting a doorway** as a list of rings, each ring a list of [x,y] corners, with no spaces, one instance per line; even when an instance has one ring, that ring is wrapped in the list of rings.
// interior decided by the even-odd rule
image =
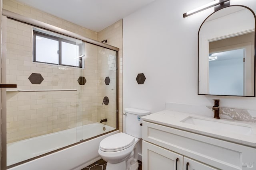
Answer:
[[[198,94],[255,97],[255,14],[250,8],[228,6],[202,23]]]

